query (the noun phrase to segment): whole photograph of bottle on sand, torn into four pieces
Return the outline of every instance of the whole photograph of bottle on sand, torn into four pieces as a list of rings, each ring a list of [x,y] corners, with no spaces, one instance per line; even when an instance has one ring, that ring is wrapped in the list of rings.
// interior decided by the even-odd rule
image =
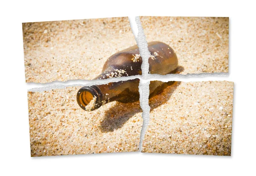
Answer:
[[[28,90],[31,156],[231,156],[233,82],[186,83],[167,75],[227,73],[229,18],[140,21],[144,39],[134,37],[128,17],[23,23],[26,84],[49,83]],[[83,85],[51,84],[68,80]],[[143,115],[145,104],[149,115]]]

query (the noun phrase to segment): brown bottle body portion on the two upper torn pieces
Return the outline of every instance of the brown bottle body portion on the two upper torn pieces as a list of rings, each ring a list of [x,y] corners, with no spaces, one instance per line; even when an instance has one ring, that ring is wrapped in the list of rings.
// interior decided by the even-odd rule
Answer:
[[[166,75],[178,67],[175,51],[166,43],[153,41],[148,43],[151,54],[148,58],[149,73]],[[141,75],[142,58],[137,45],[111,55],[105,62],[102,74],[94,79],[119,78],[122,76]]]

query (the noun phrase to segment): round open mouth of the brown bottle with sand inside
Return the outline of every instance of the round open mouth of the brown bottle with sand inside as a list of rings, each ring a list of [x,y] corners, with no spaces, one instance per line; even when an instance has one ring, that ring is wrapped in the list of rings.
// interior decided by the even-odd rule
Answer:
[[[82,87],[76,95],[79,106],[86,111],[93,111],[102,106],[102,93],[96,86]]]

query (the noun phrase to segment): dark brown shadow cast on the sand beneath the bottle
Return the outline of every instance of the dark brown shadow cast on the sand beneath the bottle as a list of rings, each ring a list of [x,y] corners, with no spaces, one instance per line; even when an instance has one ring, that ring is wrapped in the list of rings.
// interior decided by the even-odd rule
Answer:
[[[151,110],[165,104],[170,98],[172,98],[172,93],[179,85],[180,82],[177,81],[164,83],[164,88],[149,100]],[[106,110],[99,128],[102,133],[113,132],[114,130],[122,128],[133,115],[142,112],[143,110],[140,107],[140,101],[136,101],[134,103],[120,103],[116,101],[116,104],[113,107]]]

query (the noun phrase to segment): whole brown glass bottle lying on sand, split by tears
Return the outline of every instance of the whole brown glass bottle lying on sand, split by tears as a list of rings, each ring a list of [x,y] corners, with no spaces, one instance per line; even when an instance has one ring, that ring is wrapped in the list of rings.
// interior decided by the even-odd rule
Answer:
[[[170,46],[162,42],[150,42],[148,43],[148,50],[151,53],[151,57],[148,59],[149,73],[166,75],[175,72],[178,66],[178,61],[175,52]],[[137,45],[117,52],[108,58],[103,66],[102,74],[94,79],[141,75],[142,58],[139,53]],[[120,101],[124,103],[138,101],[140,98],[138,88],[139,82],[139,79],[133,79],[82,87],[77,93],[77,102],[83,110],[88,110],[86,106],[94,98],[95,103],[90,110],[95,110],[101,107],[102,104],[111,101]],[[161,81],[151,82],[150,98],[167,87],[165,83]]]

